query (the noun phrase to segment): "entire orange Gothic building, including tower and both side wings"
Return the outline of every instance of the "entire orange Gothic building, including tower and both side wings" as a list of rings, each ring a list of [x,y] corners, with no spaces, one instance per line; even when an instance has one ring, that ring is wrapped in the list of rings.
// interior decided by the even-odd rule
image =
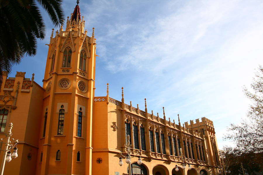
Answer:
[[[213,122],[190,120],[181,126],[145,109],[109,97],[94,97],[96,39],[84,30],[79,6],[51,34],[41,87],[25,72],[4,72],[0,89],[0,135],[13,122],[18,157],[4,174],[120,175],[119,166],[130,136],[132,174],[218,174],[219,154]],[[181,151],[180,151],[181,148]],[[3,149],[3,148],[2,148]],[[1,152],[1,155],[3,153]],[[0,156],[1,156],[0,155]],[[185,164],[185,169],[182,169]],[[188,166],[191,169],[188,169]],[[178,169],[176,168],[178,167]],[[178,170],[178,171],[176,171]]]

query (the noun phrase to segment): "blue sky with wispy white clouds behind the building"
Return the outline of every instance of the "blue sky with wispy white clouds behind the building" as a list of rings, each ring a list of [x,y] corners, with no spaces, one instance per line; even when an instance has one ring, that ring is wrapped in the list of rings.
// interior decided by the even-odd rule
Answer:
[[[75,1],[63,3],[65,15]],[[245,118],[250,101],[242,92],[263,64],[262,1],[80,0],[88,35],[97,39],[95,96],[124,100],[181,122],[206,117],[214,122],[219,149],[226,127]],[[43,10],[42,10],[43,11]],[[13,67],[35,74],[42,85],[53,28],[43,11],[46,38],[35,57]],[[65,30],[65,27],[64,27]]]

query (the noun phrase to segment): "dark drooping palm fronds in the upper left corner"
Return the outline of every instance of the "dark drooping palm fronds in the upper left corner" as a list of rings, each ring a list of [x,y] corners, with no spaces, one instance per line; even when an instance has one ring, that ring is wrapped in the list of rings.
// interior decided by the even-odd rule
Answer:
[[[62,0],[0,0],[0,85],[2,71],[10,72],[27,54],[36,55],[37,38],[45,38],[45,24],[38,4],[53,24],[63,24]]]

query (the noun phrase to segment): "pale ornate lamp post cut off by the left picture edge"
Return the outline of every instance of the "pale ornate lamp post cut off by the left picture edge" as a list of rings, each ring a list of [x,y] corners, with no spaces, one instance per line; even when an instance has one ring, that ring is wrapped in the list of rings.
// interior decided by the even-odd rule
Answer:
[[[5,168],[6,162],[10,162],[12,160],[12,158],[15,159],[16,157],[18,157],[18,154],[17,154],[18,148],[16,147],[16,145],[18,143],[18,139],[15,140],[12,138],[11,140],[13,140],[13,142],[10,141],[10,137],[12,136],[11,130],[13,128],[13,123],[10,123],[8,127],[9,127],[9,131],[7,133],[5,133],[5,136],[6,136],[5,137],[6,138],[5,148],[4,148],[4,150],[0,149],[0,151],[4,151],[3,160],[1,163],[1,170],[0,170],[1,175],[4,174],[4,168]],[[2,138],[0,140],[3,140],[5,138]],[[12,143],[14,143],[14,145]],[[3,144],[3,142],[1,142],[1,145],[2,144]],[[14,150],[13,153],[11,153],[11,151],[10,151],[12,149]]]

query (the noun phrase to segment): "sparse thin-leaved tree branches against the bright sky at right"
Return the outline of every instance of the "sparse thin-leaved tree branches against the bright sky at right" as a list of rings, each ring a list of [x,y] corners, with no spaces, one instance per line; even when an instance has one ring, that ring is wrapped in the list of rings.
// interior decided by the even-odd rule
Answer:
[[[237,148],[243,153],[263,152],[263,68],[259,66],[255,78],[251,83],[252,92],[244,87],[245,95],[251,99],[252,104],[239,125],[231,124],[226,139],[233,140]]]

